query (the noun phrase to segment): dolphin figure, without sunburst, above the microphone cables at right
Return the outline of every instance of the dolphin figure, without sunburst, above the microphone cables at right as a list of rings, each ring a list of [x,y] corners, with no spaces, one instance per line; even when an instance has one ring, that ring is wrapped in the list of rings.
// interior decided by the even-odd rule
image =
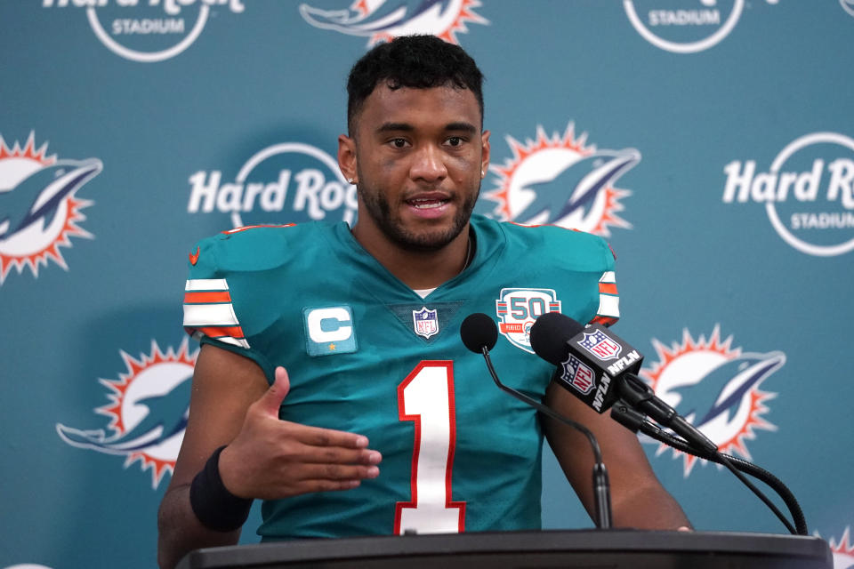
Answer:
[[[745,354],[729,360],[714,368],[702,381],[673,389],[682,397],[678,405],[680,413],[697,427],[720,416],[729,422],[730,412],[737,411],[747,392],[785,363],[786,355],[777,351]]]

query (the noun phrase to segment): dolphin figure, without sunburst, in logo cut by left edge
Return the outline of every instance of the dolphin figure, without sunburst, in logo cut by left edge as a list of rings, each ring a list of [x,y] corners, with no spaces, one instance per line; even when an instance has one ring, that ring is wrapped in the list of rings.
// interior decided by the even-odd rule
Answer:
[[[38,220],[51,224],[62,200],[73,195],[103,169],[101,160],[59,160],[0,194],[0,240],[8,239]]]

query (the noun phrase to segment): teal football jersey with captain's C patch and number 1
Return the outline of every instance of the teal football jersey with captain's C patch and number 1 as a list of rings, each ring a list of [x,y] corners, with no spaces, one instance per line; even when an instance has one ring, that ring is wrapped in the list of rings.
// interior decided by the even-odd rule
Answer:
[[[262,505],[263,539],[540,527],[543,433],[536,411],[490,379],[460,324],[483,312],[504,383],[537,400],[553,367],[530,348],[535,318],[618,317],[614,257],[597,236],[474,216],[476,252],[422,298],[346,224],[243,228],[190,255],[184,325],[288,371],[287,421],[365,435],[380,475],[344,492]],[[193,262],[195,261],[195,262]]]

